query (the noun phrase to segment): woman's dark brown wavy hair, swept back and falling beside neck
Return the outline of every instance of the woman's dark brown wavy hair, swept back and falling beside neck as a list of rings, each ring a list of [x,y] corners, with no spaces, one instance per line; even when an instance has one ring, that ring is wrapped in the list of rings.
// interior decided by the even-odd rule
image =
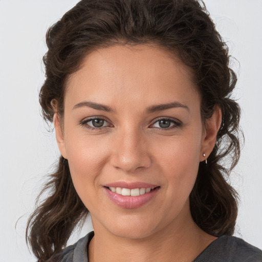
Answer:
[[[229,67],[228,48],[202,2],[197,0],[82,0],[47,32],[43,57],[46,80],[39,94],[43,117],[52,122],[57,102],[63,116],[68,77],[95,49],[112,45],[154,44],[176,54],[194,74],[201,93],[203,122],[216,107],[222,123],[208,164],[200,163],[190,194],[193,220],[205,232],[231,235],[237,216],[237,193],[227,183],[239,159],[238,104],[230,98],[236,75]],[[229,165],[225,165],[227,157]],[[60,157],[57,171],[42,192],[49,196],[31,215],[27,241],[38,261],[51,261],[88,214],[79,199],[68,161]]]

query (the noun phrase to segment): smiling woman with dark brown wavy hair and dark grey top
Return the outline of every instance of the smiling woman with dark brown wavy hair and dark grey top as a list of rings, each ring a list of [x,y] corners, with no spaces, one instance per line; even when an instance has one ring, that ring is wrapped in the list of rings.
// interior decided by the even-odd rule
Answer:
[[[47,44],[61,158],[28,223],[38,261],[261,261],[232,236],[236,75],[204,5],[82,0]],[[88,213],[94,232],[64,248]]]

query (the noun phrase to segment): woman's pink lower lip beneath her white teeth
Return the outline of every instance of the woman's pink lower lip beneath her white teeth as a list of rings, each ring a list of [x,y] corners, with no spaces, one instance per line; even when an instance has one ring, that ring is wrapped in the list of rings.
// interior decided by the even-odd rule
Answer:
[[[104,189],[107,196],[118,206],[122,208],[139,208],[154,198],[160,187],[151,190],[149,193],[138,195],[137,197],[117,194],[116,192],[112,192],[107,187],[104,187]]]

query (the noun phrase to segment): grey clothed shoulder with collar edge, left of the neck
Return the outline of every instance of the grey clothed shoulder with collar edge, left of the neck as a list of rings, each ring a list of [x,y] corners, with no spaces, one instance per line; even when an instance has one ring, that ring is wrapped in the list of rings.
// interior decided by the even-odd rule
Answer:
[[[52,258],[55,262],[88,262],[88,246],[94,231],[80,238],[75,244],[64,248]]]

